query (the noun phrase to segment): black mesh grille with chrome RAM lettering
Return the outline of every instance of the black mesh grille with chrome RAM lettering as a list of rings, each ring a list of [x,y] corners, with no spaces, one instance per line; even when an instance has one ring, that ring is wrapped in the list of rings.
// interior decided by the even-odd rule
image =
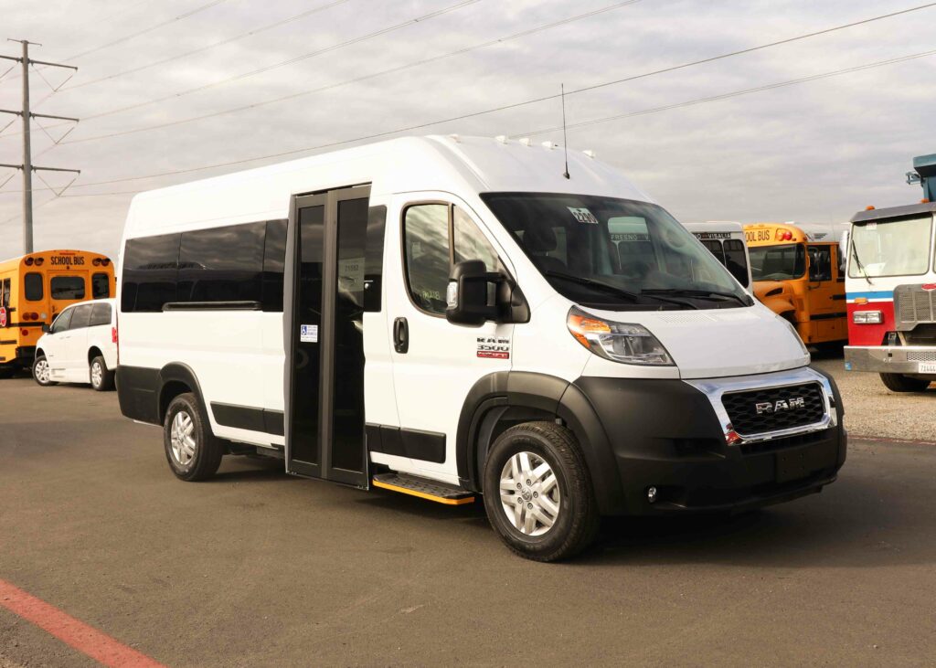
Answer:
[[[722,405],[732,427],[742,436],[806,427],[826,415],[826,400],[818,383],[726,392]]]

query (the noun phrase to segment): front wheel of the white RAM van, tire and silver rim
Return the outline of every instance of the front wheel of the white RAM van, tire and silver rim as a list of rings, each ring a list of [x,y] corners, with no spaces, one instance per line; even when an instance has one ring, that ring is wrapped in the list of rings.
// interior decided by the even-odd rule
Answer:
[[[541,469],[543,464],[548,471],[538,479],[530,477],[532,485],[528,485],[525,472]],[[519,476],[518,465],[523,473]],[[516,482],[502,490],[502,478]],[[554,481],[551,486],[550,480]],[[547,491],[540,495],[544,486]],[[585,459],[573,433],[557,424],[528,422],[501,434],[485,464],[484,492],[490,525],[520,557],[568,559],[591,545],[598,533],[598,506]],[[509,516],[505,506],[511,509]],[[534,512],[528,513],[531,506]],[[544,516],[551,519],[551,525],[542,521]]]

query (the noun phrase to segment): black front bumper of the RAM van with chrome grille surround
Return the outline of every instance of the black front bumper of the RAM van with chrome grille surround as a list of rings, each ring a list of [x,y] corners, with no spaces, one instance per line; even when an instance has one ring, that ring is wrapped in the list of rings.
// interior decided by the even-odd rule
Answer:
[[[743,436],[728,421],[725,394],[811,383],[822,387],[826,414],[810,425]],[[620,486],[611,499],[596,490],[612,514],[739,511],[790,501],[834,482],[845,461],[841,397],[817,370],[701,381],[586,377],[574,385],[591,402],[613,453]],[[602,476],[592,477],[601,486]]]

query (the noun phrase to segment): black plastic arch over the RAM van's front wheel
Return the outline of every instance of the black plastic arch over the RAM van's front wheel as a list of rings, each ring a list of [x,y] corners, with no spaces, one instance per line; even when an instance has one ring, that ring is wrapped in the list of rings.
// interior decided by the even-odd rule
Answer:
[[[605,428],[585,394],[569,381],[530,371],[497,371],[480,378],[461,408],[456,460],[461,485],[482,490],[490,446],[522,422],[560,421],[575,435],[603,513],[622,500],[618,467]]]

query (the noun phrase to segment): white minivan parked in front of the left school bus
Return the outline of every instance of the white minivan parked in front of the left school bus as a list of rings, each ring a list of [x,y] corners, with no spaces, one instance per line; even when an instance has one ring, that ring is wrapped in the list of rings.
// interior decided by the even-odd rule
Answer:
[[[62,310],[36,343],[33,378],[39,385],[87,383],[113,389],[117,369],[114,299],[95,299]]]

